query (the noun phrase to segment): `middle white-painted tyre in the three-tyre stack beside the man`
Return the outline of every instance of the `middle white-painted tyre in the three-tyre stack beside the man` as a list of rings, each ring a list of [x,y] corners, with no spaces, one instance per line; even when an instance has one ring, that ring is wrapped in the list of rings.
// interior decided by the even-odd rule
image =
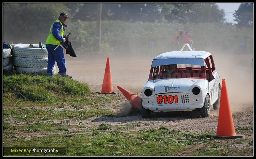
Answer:
[[[36,58],[24,58],[16,57],[13,58],[13,65],[26,68],[47,68],[47,60],[45,59],[36,59]]]

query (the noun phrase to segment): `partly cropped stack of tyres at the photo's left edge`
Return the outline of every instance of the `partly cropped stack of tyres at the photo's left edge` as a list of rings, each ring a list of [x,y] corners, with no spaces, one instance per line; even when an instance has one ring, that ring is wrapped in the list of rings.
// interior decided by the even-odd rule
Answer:
[[[10,62],[11,49],[3,47],[3,73],[11,74],[13,71],[13,65]]]

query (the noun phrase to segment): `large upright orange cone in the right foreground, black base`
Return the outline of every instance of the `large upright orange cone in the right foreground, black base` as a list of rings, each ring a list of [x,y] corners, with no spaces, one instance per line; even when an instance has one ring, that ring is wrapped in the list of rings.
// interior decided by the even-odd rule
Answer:
[[[228,90],[225,79],[222,79],[220,94],[220,110],[216,135],[208,135],[214,139],[236,139],[244,135],[236,134],[233,117],[230,109]]]

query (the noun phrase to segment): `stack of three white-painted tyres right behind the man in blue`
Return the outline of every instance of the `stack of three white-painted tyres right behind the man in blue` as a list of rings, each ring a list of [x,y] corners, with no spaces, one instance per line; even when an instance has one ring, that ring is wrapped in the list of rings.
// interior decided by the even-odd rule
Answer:
[[[46,75],[47,71],[47,49],[39,48],[38,44],[15,44],[12,49],[13,65],[16,73]],[[57,70],[54,66],[53,74]]]

